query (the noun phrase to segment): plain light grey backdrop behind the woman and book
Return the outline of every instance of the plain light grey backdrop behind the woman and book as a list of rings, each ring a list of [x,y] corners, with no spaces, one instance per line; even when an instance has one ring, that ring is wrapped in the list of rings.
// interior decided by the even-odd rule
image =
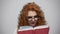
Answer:
[[[35,2],[44,11],[49,34],[60,34],[60,0],[0,0],[0,34],[13,34],[18,14],[28,2]]]

